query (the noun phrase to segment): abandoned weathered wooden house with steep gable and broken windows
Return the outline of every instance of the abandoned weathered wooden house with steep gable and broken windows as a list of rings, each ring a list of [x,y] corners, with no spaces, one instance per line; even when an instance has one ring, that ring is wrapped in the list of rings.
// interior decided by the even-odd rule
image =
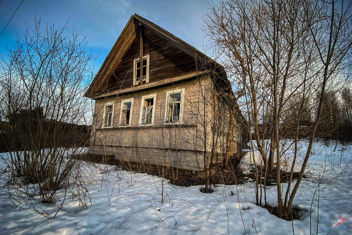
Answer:
[[[224,68],[136,14],[85,96],[95,100],[90,154],[202,171],[240,151]]]

